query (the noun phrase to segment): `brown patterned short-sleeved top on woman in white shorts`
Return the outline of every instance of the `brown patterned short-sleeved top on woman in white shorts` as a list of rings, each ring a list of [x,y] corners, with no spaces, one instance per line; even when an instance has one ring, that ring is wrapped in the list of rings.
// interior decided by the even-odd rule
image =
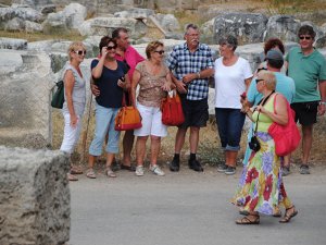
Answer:
[[[139,95],[137,101],[146,107],[160,107],[163,98],[166,97],[166,91],[162,86],[166,82],[166,75],[170,70],[165,64],[158,75],[150,74],[145,65],[145,61],[137,64],[136,69],[140,72]]]

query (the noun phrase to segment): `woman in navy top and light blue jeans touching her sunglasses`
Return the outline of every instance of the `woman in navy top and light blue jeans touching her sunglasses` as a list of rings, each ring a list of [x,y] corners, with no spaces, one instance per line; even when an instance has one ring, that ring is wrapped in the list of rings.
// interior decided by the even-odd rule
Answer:
[[[116,41],[109,36],[102,37],[99,46],[101,56],[91,62],[91,75],[100,90],[96,97],[96,130],[89,147],[89,169],[86,176],[96,177],[93,164],[96,158],[102,154],[105,135],[109,134],[106,151],[105,175],[115,177],[111,169],[114,155],[118,152],[120,132],[114,130],[115,117],[122,107],[123,90],[130,87],[127,66],[115,59]]]

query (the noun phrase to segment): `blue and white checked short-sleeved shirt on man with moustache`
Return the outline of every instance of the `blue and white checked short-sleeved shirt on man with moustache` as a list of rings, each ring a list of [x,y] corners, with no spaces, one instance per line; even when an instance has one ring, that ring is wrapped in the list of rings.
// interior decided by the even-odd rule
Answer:
[[[213,69],[212,50],[204,44],[199,44],[195,52],[190,52],[187,42],[174,47],[167,59],[167,66],[174,71],[177,79],[189,73],[198,73],[205,69]],[[187,99],[201,100],[209,97],[209,78],[193,79],[188,85]]]

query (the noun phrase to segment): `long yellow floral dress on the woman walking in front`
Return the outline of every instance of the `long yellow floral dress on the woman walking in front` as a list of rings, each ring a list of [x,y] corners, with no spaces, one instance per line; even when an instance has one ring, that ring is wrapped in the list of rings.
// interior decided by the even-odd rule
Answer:
[[[274,98],[264,106],[266,110],[274,111]],[[254,112],[258,114],[258,112]],[[256,114],[253,119],[256,120]],[[264,215],[275,215],[279,212],[279,206],[285,208],[292,206],[284,187],[280,170],[280,157],[275,154],[275,143],[272,136],[265,132],[266,125],[273,122],[266,120],[266,115],[260,114],[260,123],[265,124],[265,128],[258,127],[256,137],[261,149],[252,151],[248,164],[243,168],[238,188],[231,203],[243,207],[247,211],[258,211]]]

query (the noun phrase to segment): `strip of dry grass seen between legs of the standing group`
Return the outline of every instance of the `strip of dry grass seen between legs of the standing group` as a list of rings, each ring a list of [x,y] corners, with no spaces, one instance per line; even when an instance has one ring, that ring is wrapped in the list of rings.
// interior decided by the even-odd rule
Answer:
[[[60,110],[53,110],[52,112],[53,120],[53,149],[59,149],[62,142],[63,134],[63,117]],[[93,111],[91,112],[89,130],[87,132],[87,140],[85,147],[83,146],[83,138],[86,136],[86,121],[87,115],[84,117],[84,127],[82,130],[80,139],[78,146],[73,155],[73,161],[79,162],[80,158],[83,158],[85,152],[85,160],[88,154],[88,148],[93,137],[95,130],[95,117]],[[171,161],[174,155],[174,140],[176,134],[176,127],[168,127],[168,135],[162,139],[161,154],[160,154],[160,162],[166,163]],[[313,148],[311,151],[311,162],[315,164],[321,164],[325,162],[326,154],[326,140],[325,140],[325,132],[326,132],[326,119],[319,119],[319,122],[315,125],[314,130],[314,142]],[[123,133],[122,133],[123,136]],[[189,133],[187,134],[186,142],[181,151],[181,160],[184,163],[187,162],[189,157]],[[247,132],[242,132],[242,137],[240,142],[241,149],[238,156],[238,163],[240,163],[243,159],[243,154],[247,145]],[[148,146],[149,147],[149,146]],[[121,149],[122,149],[122,137],[121,137]],[[133,150],[133,159],[135,159],[135,149]],[[221,150],[220,138],[217,136],[216,124],[214,120],[210,120],[208,126],[201,128],[200,131],[200,143],[198,148],[198,157],[204,164],[215,166],[216,163],[223,161],[223,151]],[[301,157],[301,147],[298,148],[291,157],[292,163],[299,164]],[[103,154],[99,160],[103,162],[105,159],[105,155]],[[117,159],[122,159],[122,155],[117,156]],[[147,158],[149,159],[149,157]],[[85,163],[84,160],[82,162]]]

